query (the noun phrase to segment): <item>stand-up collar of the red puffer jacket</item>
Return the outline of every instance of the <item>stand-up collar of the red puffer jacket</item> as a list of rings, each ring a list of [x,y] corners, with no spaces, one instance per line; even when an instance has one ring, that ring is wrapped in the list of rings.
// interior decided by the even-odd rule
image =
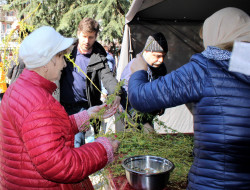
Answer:
[[[24,69],[19,78],[27,81],[28,83],[32,83],[35,86],[44,88],[50,94],[52,94],[57,88],[54,82],[51,82],[41,75],[37,74],[35,71],[31,71],[28,69]]]

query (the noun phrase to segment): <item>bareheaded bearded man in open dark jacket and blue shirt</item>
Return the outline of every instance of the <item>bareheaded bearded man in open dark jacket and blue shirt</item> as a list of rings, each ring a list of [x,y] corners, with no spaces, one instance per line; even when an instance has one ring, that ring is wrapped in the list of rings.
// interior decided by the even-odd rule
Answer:
[[[60,102],[68,114],[75,114],[91,106],[101,105],[101,81],[108,94],[113,94],[118,84],[108,66],[105,49],[96,41],[98,32],[99,24],[92,18],[84,18],[79,23],[78,42],[71,53],[71,59],[81,70],[66,60],[67,67],[63,69],[60,80]],[[116,96],[112,106],[118,108],[120,100],[121,97]],[[96,128],[94,129],[97,133]],[[83,139],[82,133],[76,136],[80,144],[84,142]]]

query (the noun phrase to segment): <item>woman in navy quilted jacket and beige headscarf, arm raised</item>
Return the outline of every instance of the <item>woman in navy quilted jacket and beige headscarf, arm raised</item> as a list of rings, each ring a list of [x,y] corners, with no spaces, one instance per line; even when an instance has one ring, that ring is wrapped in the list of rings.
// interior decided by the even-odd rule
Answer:
[[[194,103],[194,161],[187,189],[250,189],[250,76],[228,70],[234,41],[250,42],[250,17],[223,8],[205,20],[201,36],[203,52],[152,82],[137,55],[129,101],[142,112]]]

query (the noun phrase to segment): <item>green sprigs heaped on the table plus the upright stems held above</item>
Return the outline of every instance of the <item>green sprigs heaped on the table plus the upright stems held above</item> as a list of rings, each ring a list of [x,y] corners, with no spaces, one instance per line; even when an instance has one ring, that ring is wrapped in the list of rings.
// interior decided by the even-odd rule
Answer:
[[[116,93],[112,94],[107,99],[107,104],[112,104],[114,97],[119,93],[124,81],[121,81],[116,87]],[[192,150],[193,150],[193,136],[184,135],[178,133],[176,130],[166,126],[163,122],[157,118],[154,119],[154,123],[165,128],[166,132],[171,134],[161,135],[155,132],[145,133],[143,129],[142,118],[154,117],[148,113],[141,113],[136,110],[133,118],[131,114],[125,110],[119,113],[118,120],[124,121],[124,131],[103,134],[98,136],[106,136],[116,138],[121,142],[118,152],[116,153],[115,162],[106,166],[102,171],[103,176],[108,176],[109,172],[113,177],[119,177],[125,175],[125,170],[122,167],[122,160],[136,155],[153,155],[162,158],[169,159],[175,165],[175,169],[170,175],[168,188],[170,189],[185,189],[187,185],[188,171],[193,162]],[[103,114],[103,112],[100,112]],[[102,179],[103,180],[103,179]],[[107,181],[106,181],[107,182]]]

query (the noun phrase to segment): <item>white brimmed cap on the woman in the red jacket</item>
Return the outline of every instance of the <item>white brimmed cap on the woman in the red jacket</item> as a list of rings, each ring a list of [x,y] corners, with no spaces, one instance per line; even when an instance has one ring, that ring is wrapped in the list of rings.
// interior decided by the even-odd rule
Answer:
[[[49,63],[54,55],[69,48],[74,41],[74,38],[65,38],[50,26],[42,26],[23,40],[19,58],[26,68],[41,67]]]

